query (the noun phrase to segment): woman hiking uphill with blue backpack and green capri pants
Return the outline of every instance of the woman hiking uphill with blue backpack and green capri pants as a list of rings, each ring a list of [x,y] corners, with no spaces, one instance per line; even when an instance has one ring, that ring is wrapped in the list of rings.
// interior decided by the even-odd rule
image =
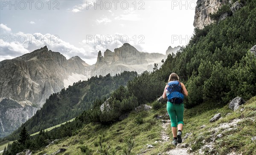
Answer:
[[[188,92],[183,83],[180,82],[179,76],[175,73],[172,73],[169,76],[168,83],[164,88],[163,98],[168,98],[167,101],[167,112],[171,119],[172,135],[173,141],[172,144],[177,146],[177,143],[181,143],[181,135],[183,129],[183,113],[184,113],[184,104],[183,99],[184,95],[188,96]],[[178,132],[177,132],[178,126]]]

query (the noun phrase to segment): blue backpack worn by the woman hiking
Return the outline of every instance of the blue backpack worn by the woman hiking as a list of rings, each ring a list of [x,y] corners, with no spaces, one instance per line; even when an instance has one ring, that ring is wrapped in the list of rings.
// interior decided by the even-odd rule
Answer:
[[[183,103],[184,95],[182,93],[181,84],[179,81],[170,81],[166,89],[166,96],[169,102]]]

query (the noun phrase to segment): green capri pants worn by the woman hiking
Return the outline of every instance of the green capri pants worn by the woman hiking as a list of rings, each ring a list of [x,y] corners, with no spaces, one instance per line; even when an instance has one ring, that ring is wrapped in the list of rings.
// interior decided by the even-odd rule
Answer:
[[[167,102],[166,105],[167,112],[171,119],[171,127],[177,127],[177,124],[183,124],[183,113],[184,113],[184,103],[173,104],[171,102]]]

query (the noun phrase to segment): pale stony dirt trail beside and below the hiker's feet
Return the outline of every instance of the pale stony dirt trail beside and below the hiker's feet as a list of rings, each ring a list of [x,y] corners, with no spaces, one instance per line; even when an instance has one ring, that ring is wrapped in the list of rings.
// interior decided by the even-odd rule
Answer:
[[[172,143],[172,138],[167,134],[167,127],[170,126],[170,120],[162,120],[161,126],[163,127],[163,131],[161,132],[162,142]],[[175,149],[171,149],[167,152],[164,152],[164,155],[189,155],[187,153],[187,148],[182,148],[181,144],[177,144]]]

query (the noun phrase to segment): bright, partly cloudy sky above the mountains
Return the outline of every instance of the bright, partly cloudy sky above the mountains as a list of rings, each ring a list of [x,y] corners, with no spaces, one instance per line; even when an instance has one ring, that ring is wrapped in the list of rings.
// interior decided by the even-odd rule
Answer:
[[[129,43],[165,54],[186,46],[196,0],[0,0],[0,61],[47,45],[96,63],[99,51]]]

